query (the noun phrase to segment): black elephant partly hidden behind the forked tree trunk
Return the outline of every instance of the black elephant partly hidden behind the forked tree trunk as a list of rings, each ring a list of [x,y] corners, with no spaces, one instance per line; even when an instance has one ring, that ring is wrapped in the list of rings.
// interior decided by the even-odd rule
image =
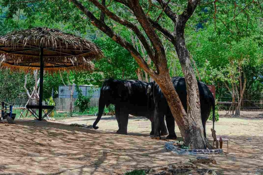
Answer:
[[[173,77],[171,78],[175,90],[179,95],[179,98],[183,104],[184,109],[187,112],[187,92],[186,92],[186,84],[185,84],[185,78],[184,77]],[[175,127],[175,120],[173,118],[173,115],[171,114],[171,110],[168,106],[168,103],[161,92],[160,87],[156,82],[151,82],[148,85],[148,98],[149,101],[154,101],[155,107],[154,107],[154,116],[152,120],[154,120],[154,128],[152,130],[154,131],[152,138],[153,139],[160,139],[160,121],[166,120],[167,129],[169,132],[169,135],[167,136],[167,139],[176,139],[176,134],[174,131]],[[206,136],[205,132],[205,124],[206,121],[209,118],[211,108],[213,109],[213,125],[215,121],[215,99],[209,88],[206,86],[205,83],[198,81],[198,88],[199,88],[199,98],[200,98],[200,107],[201,107],[201,118],[202,118],[202,124],[204,127],[204,135]],[[148,104],[152,104],[148,102]],[[152,108],[152,106],[149,106]]]

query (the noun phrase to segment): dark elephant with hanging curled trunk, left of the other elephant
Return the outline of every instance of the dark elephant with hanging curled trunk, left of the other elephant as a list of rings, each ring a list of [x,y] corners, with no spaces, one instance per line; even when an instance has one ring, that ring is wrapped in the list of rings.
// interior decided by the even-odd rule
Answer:
[[[96,125],[102,117],[104,107],[105,105],[108,107],[110,104],[115,105],[115,115],[119,126],[118,134],[127,134],[129,114],[150,119],[153,128],[154,104],[148,104],[146,92],[148,84],[139,80],[105,80],[100,90],[99,112],[97,119],[93,123],[93,128],[99,128]],[[161,130],[160,135],[167,135],[168,132],[164,120],[159,126]],[[153,134],[153,130],[150,134]]]

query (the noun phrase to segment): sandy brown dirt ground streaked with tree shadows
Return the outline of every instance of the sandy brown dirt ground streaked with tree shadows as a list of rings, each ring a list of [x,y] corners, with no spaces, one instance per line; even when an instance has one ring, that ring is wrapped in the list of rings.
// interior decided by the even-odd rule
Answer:
[[[199,167],[215,169],[217,174],[263,174],[263,112],[242,111],[239,118],[224,114],[220,112],[215,130],[230,139],[230,153],[214,155],[217,164]],[[98,130],[68,125],[92,125],[94,120],[94,116],[79,116],[0,124],[0,174],[123,174],[198,157],[165,151],[167,140],[150,139],[150,121],[141,117],[129,119],[128,135],[115,133],[118,124],[112,116],[103,116]],[[210,141],[211,127],[208,121]],[[180,140],[177,126],[175,130]],[[226,151],[225,143],[223,149]]]

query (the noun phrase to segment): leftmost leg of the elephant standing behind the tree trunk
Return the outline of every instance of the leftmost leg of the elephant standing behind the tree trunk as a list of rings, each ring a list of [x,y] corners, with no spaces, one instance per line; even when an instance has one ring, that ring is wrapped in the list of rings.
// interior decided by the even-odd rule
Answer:
[[[164,121],[164,114],[162,112],[158,112],[156,109],[154,111],[154,134],[151,136],[152,139],[160,140],[160,131],[161,125]]]

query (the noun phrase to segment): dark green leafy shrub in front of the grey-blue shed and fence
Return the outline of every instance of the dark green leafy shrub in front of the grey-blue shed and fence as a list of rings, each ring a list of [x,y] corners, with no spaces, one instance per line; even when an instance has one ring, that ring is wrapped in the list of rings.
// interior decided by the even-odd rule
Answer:
[[[80,113],[83,113],[89,107],[88,105],[90,103],[91,96],[84,96],[79,86],[76,86],[76,91],[78,93],[78,98],[75,101],[75,106],[79,108]]]

